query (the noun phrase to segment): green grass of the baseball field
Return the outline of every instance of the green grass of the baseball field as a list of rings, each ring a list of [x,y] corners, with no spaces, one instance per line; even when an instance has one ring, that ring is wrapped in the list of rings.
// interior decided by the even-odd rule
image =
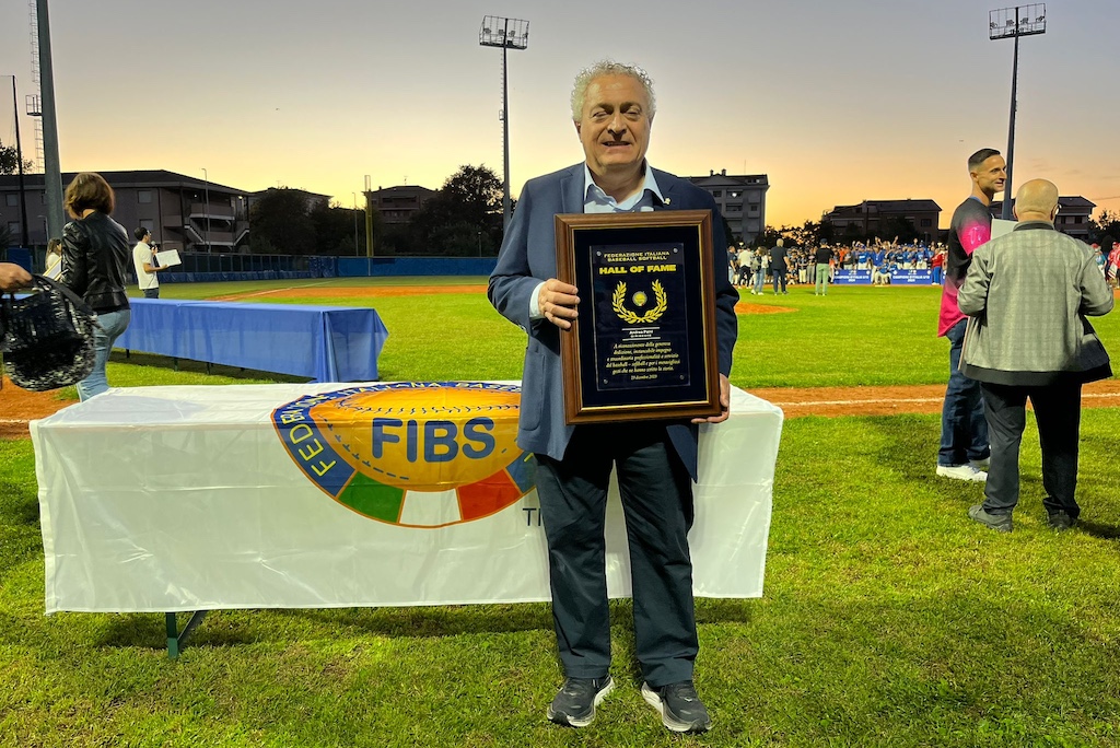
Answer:
[[[301,300],[375,307],[384,380],[517,378],[523,335],[484,297],[379,296],[465,280],[484,282],[349,281],[352,298]],[[740,318],[738,386],[944,380],[936,289],[746,300],[796,311]],[[1120,316],[1096,327],[1120,352]],[[119,356],[109,376],[277,380]],[[787,421],[765,597],[697,604],[697,684],[716,727],[696,738],[670,736],[642,702],[627,601],[613,604],[620,688],[578,732],[544,719],[561,677],[545,605],[224,611],[178,661],[159,616],[45,617],[31,445],[0,441],[0,745],[1117,746],[1120,409],[1084,413],[1085,522],[1064,534],[1043,521],[1029,429],[1016,531],[1000,535],[965,517],[981,487],[932,476],[937,417]]]

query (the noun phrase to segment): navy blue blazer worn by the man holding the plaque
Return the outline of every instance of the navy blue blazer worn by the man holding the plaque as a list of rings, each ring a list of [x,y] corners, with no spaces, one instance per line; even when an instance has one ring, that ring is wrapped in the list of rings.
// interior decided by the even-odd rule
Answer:
[[[738,335],[735,305],[739,294],[727,277],[727,239],[716,200],[692,183],[666,171],[654,169],[653,175],[666,203],[655,209],[708,209],[712,213],[719,371],[730,375],[731,350]],[[564,423],[561,330],[547,319],[531,320],[529,300],[541,281],[557,277],[554,216],[558,213],[582,213],[584,198],[582,163],[525,183],[487,290],[494,308],[529,335],[521,383],[517,446],[557,460],[563,459],[575,431],[575,427]],[[696,480],[697,427],[688,421],[673,421],[666,424],[666,431],[673,448]]]

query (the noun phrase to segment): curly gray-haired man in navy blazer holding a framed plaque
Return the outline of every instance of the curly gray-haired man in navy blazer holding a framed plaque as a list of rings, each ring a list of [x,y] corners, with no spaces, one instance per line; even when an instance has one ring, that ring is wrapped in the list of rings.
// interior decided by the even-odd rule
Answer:
[[[571,96],[585,162],[530,180],[489,279],[494,307],[529,335],[517,445],[534,452],[549,546],[552,613],[566,680],[548,709],[553,722],[590,724],[614,688],[604,521],[614,468],[626,517],[643,698],[676,732],[711,727],[692,684],[699,644],[688,531],[697,477],[698,423],[727,419],[738,293],[728,281],[722,221],[708,193],[653,169],[645,153],[655,112],[644,71],[604,60],[582,71]],[[557,279],[557,214],[710,211],[720,404],[704,419],[567,423],[561,336],[577,316],[578,289]]]

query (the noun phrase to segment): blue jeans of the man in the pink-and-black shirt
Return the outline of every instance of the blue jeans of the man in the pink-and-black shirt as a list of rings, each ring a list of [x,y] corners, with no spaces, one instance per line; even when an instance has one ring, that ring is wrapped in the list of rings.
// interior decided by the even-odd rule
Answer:
[[[955,467],[969,460],[982,460],[991,455],[988,443],[988,421],[983,415],[980,383],[960,371],[961,347],[968,319],[949,328],[949,386],[941,408],[941,449],[937,465]]]

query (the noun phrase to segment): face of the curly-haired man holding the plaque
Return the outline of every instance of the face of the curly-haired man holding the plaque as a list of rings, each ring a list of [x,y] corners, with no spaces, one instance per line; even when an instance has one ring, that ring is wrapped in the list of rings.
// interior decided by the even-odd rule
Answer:
[[[642,84],[628,75],[591,81],[584,113],[576,123],[591,174],[637,170],[650,147],[650,102]]]

